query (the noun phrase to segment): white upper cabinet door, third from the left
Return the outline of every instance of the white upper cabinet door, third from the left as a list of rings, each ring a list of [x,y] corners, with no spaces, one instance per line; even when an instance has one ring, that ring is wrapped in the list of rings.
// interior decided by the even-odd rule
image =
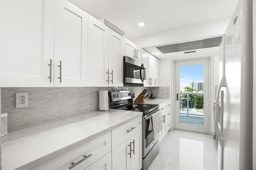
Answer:
[[[108,26],[88,16],[88,85],[108,86]]]

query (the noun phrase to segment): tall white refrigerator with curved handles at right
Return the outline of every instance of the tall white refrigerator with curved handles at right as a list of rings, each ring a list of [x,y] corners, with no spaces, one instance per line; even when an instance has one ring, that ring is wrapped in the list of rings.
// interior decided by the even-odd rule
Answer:
[[[220,46],[215,100],[218,169],[252,169],[252,1],[240,0]]]

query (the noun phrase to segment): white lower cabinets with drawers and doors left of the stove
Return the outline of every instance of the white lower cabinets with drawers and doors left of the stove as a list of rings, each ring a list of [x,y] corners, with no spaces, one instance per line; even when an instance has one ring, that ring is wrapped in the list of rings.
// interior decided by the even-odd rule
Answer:
[[[112,150],[112,151],[111,151]],[[73,149],[32,170],[141,170],[142,117]]]

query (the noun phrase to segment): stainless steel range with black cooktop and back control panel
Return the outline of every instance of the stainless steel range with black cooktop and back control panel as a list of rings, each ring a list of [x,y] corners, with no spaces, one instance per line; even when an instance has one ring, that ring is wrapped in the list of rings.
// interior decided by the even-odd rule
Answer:
[[[154,137],[154,131],[150,128],[150,119],[152,115],[159,112],[159,105],[153,104],[134,104],[132,98],[134,93],[130,91],[115,91],[109,92],[110,108],[140,111],[143,112],[142,116],[142,169],[148,169],[152,160],[159,152],[159,135]]]

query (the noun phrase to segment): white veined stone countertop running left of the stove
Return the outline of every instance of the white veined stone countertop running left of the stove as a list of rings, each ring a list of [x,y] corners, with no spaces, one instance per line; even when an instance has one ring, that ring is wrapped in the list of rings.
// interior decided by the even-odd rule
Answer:
[[[2,169],[28,170],[141,116],[110,109],[10,131],[2,137]]]

